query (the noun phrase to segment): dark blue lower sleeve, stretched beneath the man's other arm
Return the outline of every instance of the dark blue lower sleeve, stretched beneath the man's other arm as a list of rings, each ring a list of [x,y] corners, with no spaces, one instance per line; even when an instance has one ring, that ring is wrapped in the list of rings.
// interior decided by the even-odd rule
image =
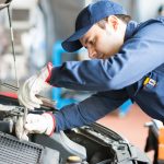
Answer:
[[[56,131],[96,121],[128,99],[126,90],[99,92],[79,104],[65,106],[55,114]]]

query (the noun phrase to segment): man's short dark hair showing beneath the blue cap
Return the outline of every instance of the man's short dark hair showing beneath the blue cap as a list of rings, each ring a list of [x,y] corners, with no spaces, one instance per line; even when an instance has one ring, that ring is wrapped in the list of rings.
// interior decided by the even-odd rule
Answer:
[[[116,17],[118,17],[119,20],[121,20],[125,24],[128,24],[128,22],[131,20],[130,15],[124,15],[124,14],[116,14]],[[97,24],[99,27],[105,28],[105,22],[107,22],[107,17],[101,20]]]

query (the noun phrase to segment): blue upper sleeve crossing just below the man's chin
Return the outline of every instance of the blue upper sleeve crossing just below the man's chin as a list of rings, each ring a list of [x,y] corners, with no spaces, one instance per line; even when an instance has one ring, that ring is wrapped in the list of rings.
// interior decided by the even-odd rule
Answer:
[[[68,61],[52,69],[50,84],[104,92],[128,86],[164,62],[164,24],[139,30],[109,59]]]

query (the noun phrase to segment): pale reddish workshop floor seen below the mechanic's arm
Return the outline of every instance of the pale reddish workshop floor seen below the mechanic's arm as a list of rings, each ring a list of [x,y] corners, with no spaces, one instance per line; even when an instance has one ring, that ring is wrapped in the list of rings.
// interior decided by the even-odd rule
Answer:
[[[144,124],[150,120],[151,118],[134,104],[131,105],[129,113],[125,117],[108,114],[97,122],[118,132],[130,143],[143,151],[148,136],[148,129],[144,127]],[[148,156],[152,161],[153,152],[149,152]]]

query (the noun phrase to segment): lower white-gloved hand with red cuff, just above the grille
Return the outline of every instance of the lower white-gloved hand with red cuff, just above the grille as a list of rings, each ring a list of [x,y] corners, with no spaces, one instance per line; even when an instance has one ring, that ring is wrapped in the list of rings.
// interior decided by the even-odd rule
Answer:
[[[45,113],[43,115],[28,114],[23,127],[22,119],[19,119],[15,127],[15,133],[19,139],[26,140],[27,133],[45,133],[51,136],[55,130],[55,117]]]

